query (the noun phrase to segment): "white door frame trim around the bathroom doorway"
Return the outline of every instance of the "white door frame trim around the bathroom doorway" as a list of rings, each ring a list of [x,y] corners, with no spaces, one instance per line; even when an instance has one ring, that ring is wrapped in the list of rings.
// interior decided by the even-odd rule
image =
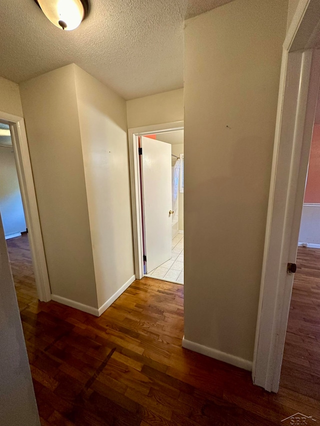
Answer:
[[[134,253],[135,278],[140,280],[143,273],[143,241],[142,241],[142,206],[141,206],[141,181],[138,154],[138,136],[147,134],[159,134],[174,130],[183,130],[183,121],[171,123],[154,124],[150,126],[135,127],[128,129],[129,147],[129,169],[130,169],[130,190],[131,190],[131,210],[132,210],[132,234]]]

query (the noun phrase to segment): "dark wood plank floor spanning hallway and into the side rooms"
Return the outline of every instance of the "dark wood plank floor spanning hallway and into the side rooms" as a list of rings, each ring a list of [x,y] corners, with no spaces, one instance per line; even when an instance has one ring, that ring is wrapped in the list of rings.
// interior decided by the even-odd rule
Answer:
[[[96,318],[38,302],[27,237],[7,243],[42,425],[269,426],[296,412],[320,421],[317,251],[299,250],[275,395],[181,348],[183,286],[135,281]]]

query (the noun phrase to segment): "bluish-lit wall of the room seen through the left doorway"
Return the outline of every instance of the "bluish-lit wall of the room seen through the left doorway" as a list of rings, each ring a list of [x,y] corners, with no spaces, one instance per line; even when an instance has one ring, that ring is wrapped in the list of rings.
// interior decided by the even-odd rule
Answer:
[[[0,147],[0,212],[6,237],[25,231],[18,176],[10,147]]]

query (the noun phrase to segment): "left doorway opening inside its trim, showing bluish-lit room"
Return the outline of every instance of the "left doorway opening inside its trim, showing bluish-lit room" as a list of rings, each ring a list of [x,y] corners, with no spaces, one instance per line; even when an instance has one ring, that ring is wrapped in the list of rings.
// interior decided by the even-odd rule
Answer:
[[[0,214],[20,311],[38,298],[11,132],[0,121]]]

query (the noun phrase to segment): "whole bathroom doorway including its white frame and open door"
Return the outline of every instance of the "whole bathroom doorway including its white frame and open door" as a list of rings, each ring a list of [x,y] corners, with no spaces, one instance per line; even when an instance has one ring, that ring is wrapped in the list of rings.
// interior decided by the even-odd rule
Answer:
[[[135,275],[183,284],[183,123],[172,124],[129,130]]]

